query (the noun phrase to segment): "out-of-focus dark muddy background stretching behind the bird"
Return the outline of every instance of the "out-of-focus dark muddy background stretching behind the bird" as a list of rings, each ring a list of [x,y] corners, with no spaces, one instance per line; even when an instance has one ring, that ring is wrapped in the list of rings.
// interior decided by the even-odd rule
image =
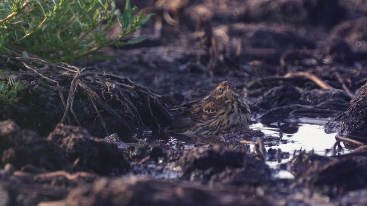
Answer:
[[[121,10],[125,1],[116,1]],[[149,23],[134,33],[142,43],[100,53],[117,59],[88,62],[187,101],[218,82],[235,82],[249,97],[274,84],[267,76],[307,71],[353,92],[366,83],[366,0],[132,0]],[[116,25],[110,35],[120,30]],[[305,89],[319,88],[296,81]],[[261,84],[261,85],[259,85]],[[251,89],[253,88],[253,89]]]

